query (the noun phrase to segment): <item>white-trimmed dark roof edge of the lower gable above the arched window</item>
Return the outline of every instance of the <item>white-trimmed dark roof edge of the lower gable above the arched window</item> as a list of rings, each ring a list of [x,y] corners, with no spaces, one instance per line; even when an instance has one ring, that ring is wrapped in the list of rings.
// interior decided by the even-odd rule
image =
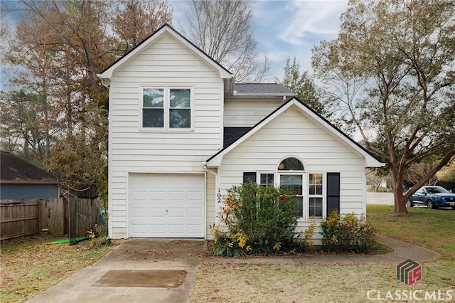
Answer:
[[[344,132],[341,132],[341,130],[338,129],[335,125],[328,122],[327,119],[323,118],[321,115],[312,110],[308,105],[304,104],[296,97],[293,97],[291,100],[285,102],[282,106],[278,107],[277,110],[274,110],[274,112],[272,112],[270,115],[268,115],[260,122],[258,122],[254,127],[252,127],[252,129],[246,132],[242,137],[238,138],[229,146],[221,149],[220,151],[218,151],[217,154],[207,159],[207,161],[205,161],[206,165],[209,167],[220,166],[221,161],[223,160],[223,156],[225,154],[228,154],[228,152],[237,147],[240,143],[244,142],[246,139],[252,136],[252,134],[255,134],[259,129],[264,127],[264,125],[268,124],[270,121],[278,117],[280,114],[282,114],[282,112],[287,110],[289,107],[295,107],[303,115],[306,115],[307,117],[311,118],[313,122],[316,122],[316,124],[318,124],[320,127],[326,129],[327,132],[330,132],[333,135],[333,137],[335,137],[340,142],[345,144],[346,147],[349,147],[359,156],[363,156],[365,158],[365,167],[384,166],[384,164],[381,163],[380,160],[377,159],[375,156],[373,156],[373,154],[371,154],[370,151],[368,151],[360,144],[355,142],[353,139],[348,137],[348,135],[345,134]]]

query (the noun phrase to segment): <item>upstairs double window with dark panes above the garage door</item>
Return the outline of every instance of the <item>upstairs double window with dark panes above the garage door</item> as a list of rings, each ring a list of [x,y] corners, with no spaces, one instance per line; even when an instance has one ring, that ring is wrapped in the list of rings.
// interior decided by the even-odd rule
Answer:
[[[188,87],[142,87],[142,128],[191,129],[193,93]]]

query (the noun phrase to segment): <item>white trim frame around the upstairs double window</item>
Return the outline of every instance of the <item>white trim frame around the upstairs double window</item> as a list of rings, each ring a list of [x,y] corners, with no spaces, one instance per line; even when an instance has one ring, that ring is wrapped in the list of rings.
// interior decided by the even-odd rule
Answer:
[[[145,88],[162,88],[164,89],[164,127],[144,127],[143,119],[144,115],[142,110],[144,109],[144,89]],[[190,111],[191,111],[191,125],[189,128],[173,128],[169,127],[169,109],[170,109],[170,90],[171,89],[189,89],[190,90]],[[194,131],[194,87],[188,85],[140,85],[139,86],[139,131],[141,132],[193,132]]]

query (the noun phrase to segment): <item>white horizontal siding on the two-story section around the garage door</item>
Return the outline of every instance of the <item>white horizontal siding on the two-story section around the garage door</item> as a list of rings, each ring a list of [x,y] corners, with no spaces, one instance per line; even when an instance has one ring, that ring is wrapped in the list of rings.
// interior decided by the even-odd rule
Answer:
[[[191,87],[191,131],[139,131],[140,87],[166,86]],[[217,70],[168,33],[114,71],[109,88],[109,220],[112,238],[127,237],[129,173],[205,174],[203,161],[220,149],[223,87]]]

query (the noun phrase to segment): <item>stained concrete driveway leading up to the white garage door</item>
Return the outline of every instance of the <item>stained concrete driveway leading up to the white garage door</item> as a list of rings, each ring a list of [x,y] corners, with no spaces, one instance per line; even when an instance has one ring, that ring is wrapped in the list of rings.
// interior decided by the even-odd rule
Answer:
[[[125,240],[95,264],[27,302],[188,302],[203,261],[198,255],[205,248],[205,240]],[[166,287],[137,287],[144,272],[158,272],[162,278],[183,272],[185,277]],[[109,276],[114,279],[109,280]],[[119,278],[122,287],[109,285]]]

